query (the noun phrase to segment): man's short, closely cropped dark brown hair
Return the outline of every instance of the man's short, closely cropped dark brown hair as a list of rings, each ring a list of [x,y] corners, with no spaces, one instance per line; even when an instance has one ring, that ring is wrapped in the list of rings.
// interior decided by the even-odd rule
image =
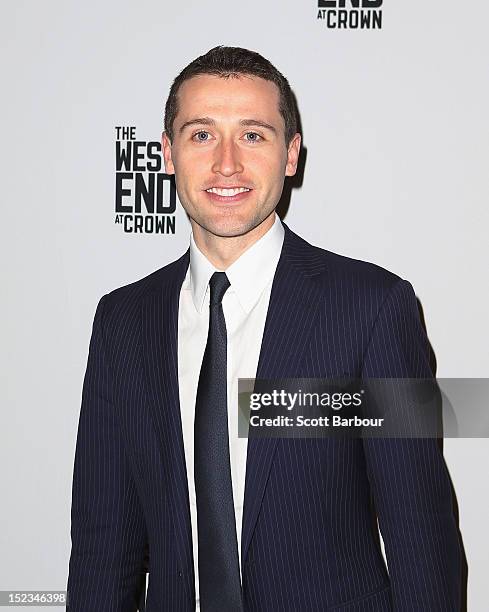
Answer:
[[[165,104],[165,132],[170,141],[173,140],[173,122],[178,113],[178,90],[184,81],[200,74],[222,78],[246,74],[275,83],[280,94],[279,111],[285,124],[285,143],[290,143],[297,132],[297,108],[287,79],[259,53],[241,47],[223,46],[214,47],[194,59],[173,81]]]

